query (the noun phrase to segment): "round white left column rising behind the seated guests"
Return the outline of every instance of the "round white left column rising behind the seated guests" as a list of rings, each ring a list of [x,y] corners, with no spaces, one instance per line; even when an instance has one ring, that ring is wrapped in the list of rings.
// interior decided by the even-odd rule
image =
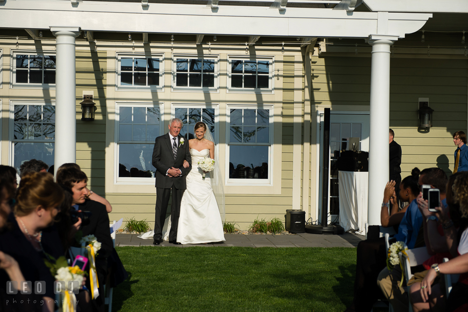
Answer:
[[[77,160],[75,38],[79,27],[50,27],[57,37],[55,171]]]

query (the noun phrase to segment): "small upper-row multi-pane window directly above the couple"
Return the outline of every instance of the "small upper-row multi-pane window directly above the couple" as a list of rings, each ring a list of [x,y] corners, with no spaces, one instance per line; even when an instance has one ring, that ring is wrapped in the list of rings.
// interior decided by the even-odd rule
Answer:
[[[176,57],[174,66],[175,90],[216,90],[217,58]]]

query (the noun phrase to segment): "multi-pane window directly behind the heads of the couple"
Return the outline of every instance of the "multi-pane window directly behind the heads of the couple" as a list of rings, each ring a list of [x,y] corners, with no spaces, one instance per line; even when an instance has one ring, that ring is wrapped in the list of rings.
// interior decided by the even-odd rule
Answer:
[[[210,107],[176,107],[175,116],[182,120],[184,126],[180,130],[180,135],[188,139],[194,139],[194,127],[199,121],[206,124],[208,130],[213,135],[213,138],[217,138],[215,133],[215,109]],[[217,142],[215,142],[217,143]]]

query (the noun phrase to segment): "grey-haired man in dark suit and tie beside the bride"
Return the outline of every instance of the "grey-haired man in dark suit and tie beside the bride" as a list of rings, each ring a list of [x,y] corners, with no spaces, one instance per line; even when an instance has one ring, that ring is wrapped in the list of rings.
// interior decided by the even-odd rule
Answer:
[[[167,205],[172,191],[171,230],[169,242],[177,243],[177,225],[179,221],[180,201],[186,189],[185,177],[192,169],[192,156],[188,140],[179,135],[182,121],[178,118],[169,121],[169,133],[158,136],[153,149],[152,163],[156,168],[156,212],[153,244],[159,245],[162,239],[162,226],[166,219]],[[184,160],[189,163],[184,168]]]

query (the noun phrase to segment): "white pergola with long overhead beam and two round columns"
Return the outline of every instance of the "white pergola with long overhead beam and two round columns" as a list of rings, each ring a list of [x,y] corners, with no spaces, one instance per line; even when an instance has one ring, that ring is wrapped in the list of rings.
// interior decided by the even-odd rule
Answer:
[[[466,12],[468,1],[452,0],[450,8],[438,0],[186,0],[180,3],[0,0],[0,28],[26,29],[32,37],[50,29],[57,37],[57,98],[55,165],[76,161],[75,38],[93,32],[300,37],[303,44],[316,37],[366,38],[372,46],[370,86],[370,225],[380,224],[382,189],[389,176],[390,45],[420,30],[431,12]],[[252,5],[246,5],[249,3]],[[270,6],[258,3],[270,2]],[[224,2],[226,4],[226,2]],[[288,4],[303,7],[288,7]],[[364,3],[371,12],[356,12]],[[322,4],[323,8],[316,8]],[[441,8],[441,6],[445,6]],[[306,54],[306,64],[309,55]],[[310,68],[306,74],[310,75]],[[310,97],[308,97],[310,100]],[[309,103],[310,104],[310,103]],[[304,155],[308,162],[310,155]],[[387,164],[387,165],[385,165]],[[307,194],[307,193],[305,193]]]

